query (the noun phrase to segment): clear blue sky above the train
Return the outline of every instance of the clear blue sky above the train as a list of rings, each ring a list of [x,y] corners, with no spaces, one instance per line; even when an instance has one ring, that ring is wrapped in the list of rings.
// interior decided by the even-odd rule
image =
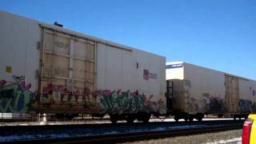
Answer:
[[[1,0],[0,10],[256,79],[254,0]]]

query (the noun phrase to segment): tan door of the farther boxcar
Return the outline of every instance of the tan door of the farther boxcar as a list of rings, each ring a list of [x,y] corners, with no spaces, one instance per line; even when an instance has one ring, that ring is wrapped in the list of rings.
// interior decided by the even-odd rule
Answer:
[[[226,79],[226,110],[228,114],[237,114],[239,110],[238,78],[230,75]]]

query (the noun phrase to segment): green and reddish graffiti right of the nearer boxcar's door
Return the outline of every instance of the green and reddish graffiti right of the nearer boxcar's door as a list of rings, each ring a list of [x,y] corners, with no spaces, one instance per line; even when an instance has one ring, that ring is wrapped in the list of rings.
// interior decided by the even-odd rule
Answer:
[[[138,94],[138,92],[130,92],[130,90],[122,92],[121,90],[102,90],[99,93],[100,107],[102,113],[138,113],[138,112],[159,112],[163,113],[165,105],[162,99],[158,102],[152,102],[150,97],[145,94]]]

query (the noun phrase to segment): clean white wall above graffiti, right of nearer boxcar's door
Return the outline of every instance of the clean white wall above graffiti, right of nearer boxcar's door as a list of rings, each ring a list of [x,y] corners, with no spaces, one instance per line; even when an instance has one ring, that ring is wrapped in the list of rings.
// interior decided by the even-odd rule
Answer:
[[[165,94],[165,58],[141,50],[121,50],[112,46],[97,46],[97,89],[131,90],[150,96],[155,100]],[[138,65],[138,67],[137,67]],[[156,74],[145,80],[143,70]]]

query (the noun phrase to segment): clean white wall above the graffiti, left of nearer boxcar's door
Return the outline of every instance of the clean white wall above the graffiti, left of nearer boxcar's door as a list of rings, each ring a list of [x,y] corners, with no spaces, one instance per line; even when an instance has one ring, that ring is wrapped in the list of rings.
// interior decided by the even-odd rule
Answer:
[[[16,82],[13,76],[25,76],[30,90],[37,89],[40,34],[38,22],[0,11],[0,80],[11,83]],[[12,69],[10,73],[6,66]]]

